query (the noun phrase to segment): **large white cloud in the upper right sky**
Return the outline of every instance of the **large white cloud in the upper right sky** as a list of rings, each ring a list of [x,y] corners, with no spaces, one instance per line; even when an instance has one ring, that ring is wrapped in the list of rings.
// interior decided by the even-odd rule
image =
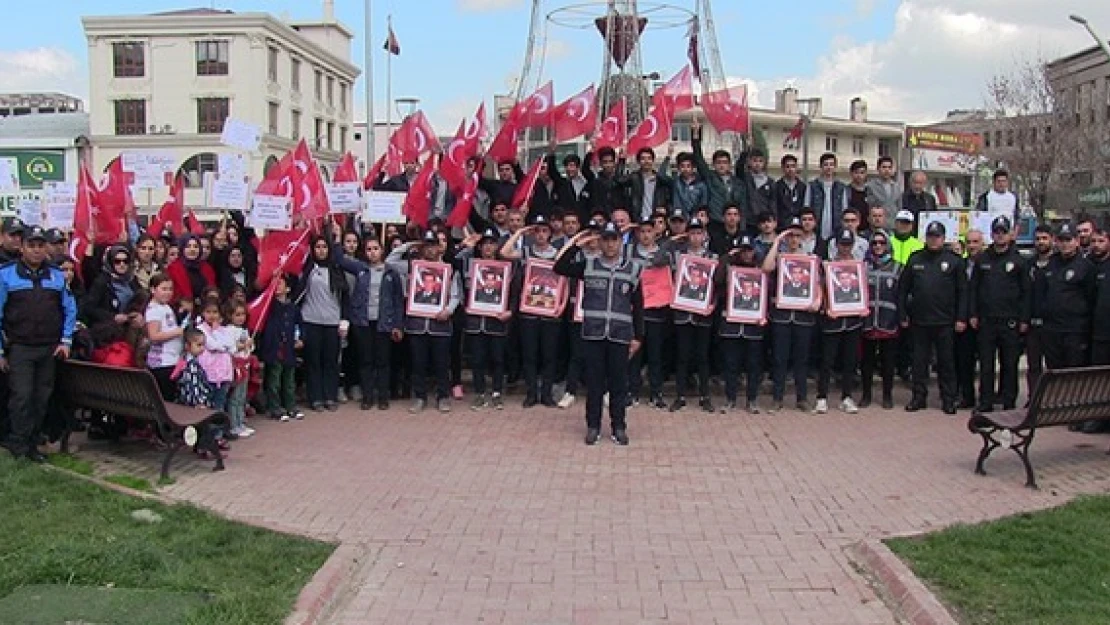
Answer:
[[[861,0],[856,7],[868,4]],[[982,107],[987,81],[1018,61],[1093,46],[1068,20],[1069,9],[1110,28],[1110,2],[1057,4],[1046,12],[1041,0],[902,0],[886,39],[834,38],[811,75],[756,81],[749,98],[773,107],[775,90],[793,83],[804,98],[823,98],[826,114],[846,117],[848,101],[862,97],[872,119],[938,121],[952,109]]]

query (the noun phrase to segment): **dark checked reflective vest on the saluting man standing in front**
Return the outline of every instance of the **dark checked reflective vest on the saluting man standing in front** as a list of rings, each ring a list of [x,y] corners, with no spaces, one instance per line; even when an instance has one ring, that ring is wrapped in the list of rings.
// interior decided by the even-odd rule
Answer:
[[[635,339],[632,294],[639,285],[640,264],[624,259],[607,265],[601,256],[586,262],[582,275],[582,337],[628,343]]]

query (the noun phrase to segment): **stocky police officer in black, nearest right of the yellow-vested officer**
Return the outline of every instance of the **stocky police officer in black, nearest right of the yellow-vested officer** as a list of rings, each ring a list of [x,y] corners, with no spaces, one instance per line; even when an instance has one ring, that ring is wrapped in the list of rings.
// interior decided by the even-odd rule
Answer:
[[[929,357],[937,350],[937,382],[945,414],[956,414],[956,332],[967,330],[967,271],[963,259],[945,248],[945,224],[925,231],[925,248],[910,254],[901,274],[898,310],[914,346],[914,396],[907,412],[926,407]]]

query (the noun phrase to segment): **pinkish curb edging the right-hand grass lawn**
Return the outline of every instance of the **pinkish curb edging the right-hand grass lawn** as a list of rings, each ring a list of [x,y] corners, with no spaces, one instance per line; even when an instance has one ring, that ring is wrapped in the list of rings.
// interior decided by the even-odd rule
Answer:
[[[948,608],[881,541],[860,541],[849,546],[847,553],[875,577],[882,598],[910,625],[959,625]]]

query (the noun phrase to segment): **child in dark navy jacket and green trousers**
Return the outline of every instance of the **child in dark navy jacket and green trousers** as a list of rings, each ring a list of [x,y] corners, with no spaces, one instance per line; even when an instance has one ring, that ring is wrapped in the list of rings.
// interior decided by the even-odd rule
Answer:
[[[296,409],[297,309],[289,301],[289,279],[276,275],[274,280],[274,301],[259,343],[259,357],[265,365],[266,412],[279,421],[301,420],[304,413]]]

